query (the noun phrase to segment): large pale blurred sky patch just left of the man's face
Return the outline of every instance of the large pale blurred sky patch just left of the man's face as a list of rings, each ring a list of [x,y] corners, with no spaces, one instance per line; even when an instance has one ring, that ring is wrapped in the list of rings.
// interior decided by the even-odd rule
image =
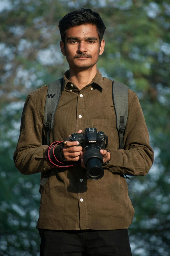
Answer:
[[[37,61],[45,66],[53,66],[62,64],[64,61],[63,55],[56,45],[51,44],[48,48],[39,50],[37,53]]]

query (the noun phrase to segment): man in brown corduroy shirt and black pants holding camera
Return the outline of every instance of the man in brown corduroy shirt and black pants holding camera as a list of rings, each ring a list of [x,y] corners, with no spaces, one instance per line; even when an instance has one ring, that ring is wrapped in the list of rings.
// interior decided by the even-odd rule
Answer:
[[[137,95],[129,89],[124,149],[118,149],[112,81],[97,70],[105,46],[105,25],[98,13],[81,9],[65,15],[59,29],[61,52],[69,70],[63,77],[64,91],[55,112],[50,144],[95,127],[108,136],[108,147],[100,150],[105,172],[101,179],[87,179],[83,148],[76,142],[55,145],[54,150],[58,161],[67,162],[64,166],[69,161],[75,165],[53,166],[46,159],[44,128],[48,86],[28,95],[14,161],[22,174],[40,172],[43,177],[52,169],[41,190],[37,223],[40,256],[132,255],[127,231],[134,209],[124,175],[146,175],[153,163],[143,112]]]

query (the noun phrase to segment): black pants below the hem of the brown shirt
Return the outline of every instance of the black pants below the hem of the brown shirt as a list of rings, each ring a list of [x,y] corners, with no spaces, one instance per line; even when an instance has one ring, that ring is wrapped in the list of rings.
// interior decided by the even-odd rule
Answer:
[[[127,229],[40,231],[40,256],[132,256]]]

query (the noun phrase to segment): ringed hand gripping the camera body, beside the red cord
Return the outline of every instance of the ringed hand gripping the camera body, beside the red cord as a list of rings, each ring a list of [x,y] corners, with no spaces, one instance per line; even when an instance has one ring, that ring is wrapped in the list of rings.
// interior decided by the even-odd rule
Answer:
[[[76,133],[81,133],[82,130],[79,130]],[[68,136],[70,137],[71,134]],[[82,146],[76,146],[77,141],[67,141],[63,147],[63,155],[65,161],[78,161],[80,159],[80,153],[82,152]]]

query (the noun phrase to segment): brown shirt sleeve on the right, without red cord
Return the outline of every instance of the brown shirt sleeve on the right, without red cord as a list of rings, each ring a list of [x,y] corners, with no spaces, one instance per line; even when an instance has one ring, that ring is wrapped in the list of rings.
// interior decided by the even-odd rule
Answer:
[[[154,152],[138,96],[133,91],[128,105],[124,147],[119,150],[108,148],[112,157],[104,168],[114,173],[144,176],[153,164]]]

